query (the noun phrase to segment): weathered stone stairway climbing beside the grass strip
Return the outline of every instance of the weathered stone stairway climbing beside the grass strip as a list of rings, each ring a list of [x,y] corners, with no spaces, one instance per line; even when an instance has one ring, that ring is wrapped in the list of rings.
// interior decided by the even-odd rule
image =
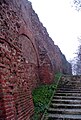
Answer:
[[[63,76],[45,120],[81,120],[81,76]]]

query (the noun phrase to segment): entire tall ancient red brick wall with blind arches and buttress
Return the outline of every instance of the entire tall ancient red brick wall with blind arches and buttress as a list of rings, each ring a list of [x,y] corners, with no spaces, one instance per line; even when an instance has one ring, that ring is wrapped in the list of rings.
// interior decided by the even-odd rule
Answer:
[[[31,3],[0,0],[0,119],[29,120],[34,112],[32,89],[51,83],[59,71],[70,74],[70,64]]]

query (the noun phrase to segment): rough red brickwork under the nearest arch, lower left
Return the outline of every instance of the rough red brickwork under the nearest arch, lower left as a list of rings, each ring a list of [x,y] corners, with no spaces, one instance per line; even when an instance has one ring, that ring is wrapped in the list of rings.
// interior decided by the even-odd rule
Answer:
[[[28,81],[27,67],[21,51],[0,39],[0,119],[23,120],[33,113],[31,81]]]

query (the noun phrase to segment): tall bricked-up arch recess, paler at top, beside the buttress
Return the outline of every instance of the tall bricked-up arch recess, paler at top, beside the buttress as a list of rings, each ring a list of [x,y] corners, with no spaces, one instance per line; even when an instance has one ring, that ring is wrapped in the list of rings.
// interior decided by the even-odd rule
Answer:
[[[37,86],[39,81],[37,53],[33,42],[28,36],[20,35],[18,37],[18,43],[26,62],[26,76],[28,81],[30,81],[31,89],[33,89]]]

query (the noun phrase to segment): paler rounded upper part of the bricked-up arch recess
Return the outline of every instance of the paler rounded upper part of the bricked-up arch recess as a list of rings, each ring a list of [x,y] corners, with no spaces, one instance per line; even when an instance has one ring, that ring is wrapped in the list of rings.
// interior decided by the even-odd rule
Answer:
[[[25,58],[26,62],[37,65],[37,55],[31,40],[25,35],[20,35],[18,42],[20,44],[22,55]]]

